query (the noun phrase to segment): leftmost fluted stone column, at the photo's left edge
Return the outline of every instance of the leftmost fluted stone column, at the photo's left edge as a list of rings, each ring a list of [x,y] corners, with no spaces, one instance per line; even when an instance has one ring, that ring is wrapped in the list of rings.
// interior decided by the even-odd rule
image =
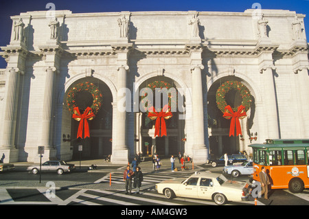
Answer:
[[[3,117],[3,138],[1,148],[14,149],[16,112],[19,92],[19,69],[12,68],[8,74],[8,85],[6,89],[5,112]]]

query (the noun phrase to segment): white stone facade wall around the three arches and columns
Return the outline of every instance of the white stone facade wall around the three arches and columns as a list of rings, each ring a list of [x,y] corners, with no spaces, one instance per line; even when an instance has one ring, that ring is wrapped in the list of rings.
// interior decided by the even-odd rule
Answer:
[[[203,81],[204,100],[211,84],[227,76],[235,77],[249,87],[251,94],[255,97],[256,104],[251,130],[259,133],[256,142],[262,143],[264,139],[268,138],[269,130],[265,116],[268,93],[262,79],[262,74],[268,70],[261,69],[267,63],[271,63],[275,69],[273,78],[277,96],[271,98],[275,98],[277,113],[279,113],[277,115],[279,119],[278,136],[281,138],[309,138],[309,133],[304,131],[304,126],[309,125],[307,124],[308,119],[304,119],[305,115],[301,112],[304,108],[299,108],[304,100],[308,100],[308,91],[306,93],[303,85],[309,85],[308,73],[306,74],[308,71],[308,56],[306,56],[308,44],[305,38],[304,22],[301,23],[303,39],[300,41],[300,46],[293,47],[295,41],[293,41],[291,23],[294,21],[296,13],[288,10],[262,10],[269,26],[266,39],[269,49],[265,49],[262,46],[259,47],[258,19],[253,19],[253,12],[253,10],[246,10],[243,13],[189,11],[72,14],[70,11],[56,11],[56,17],[60,22],[59,45],[63,49],[60,62],[46,60],[46,51],[42,49],[42,47],[48,49],[51,45],[48,27],[51,19],[46,17],[46,12],[26,12],[12,16],[13,21],[20,17],[23,18],[27,27],[26,47],[30,52],[25,62],[23,86],[20,87],[23,97],[20,107],[21,112],[25,113],[21,113],[18,118],[19,132],[16,134],[16,146],[19,148],[19,160],[36,161],[38,159],[36,150],[41,143],[43,128],[46,69],[51,63],[57,65],[58,68],[54,88],[56,106],[53,112],[54,134],[52,139],[57,157],[71,158],[69,143],[61,141],[62,134],[68,134],[71,131],[70,115],[65,111],[62,102],[69,86],[76,80],[86,77],[87,69],[93,69],[93,77],[106,82],[113,93],[113,102],[117,102],[115,99],[115,92],[118,89],[117,67],[119,67],[119,60],[122,60],[118,56],[120,50],[117,46],[124,42],[119,40],[117,19],[122,14],[126,14],[126,18],[130,20],[129,38],[126,40],[126,43],[130,43],[130,47],[132,47],[128,52],[128,60],[126,60],[129,67],[127,73],[129,89],[133,89],[133,82],[141,84],[146,79],[158,76],[162,69],[163,76],[171,78],[181,87],[192,89],[192,63],[201,62],[205,67],[202,71],[203,78],[205,78]],[[192,19],[192,14],[198,14],[200,21],[199,37],[201,39],[198,39],[200,43],[192,41],[191,38],[191,25],[188,23]],[[303,14],[297,14],[297,17],[299,21],[304,20]],[[194,50],[192,43],[194,46],[203,47]],[[199,51],[201,58],[191,56],[192,51]],[[268,55],[265,55],[266,53]],[[271,59],[266,60],[269,57]],[[266,68],[269,68],[268,64]],[[12,65],[12,62],[8,60],[8,67]],[[303,70],[295,73],[295,68]],[[305,74],[302,80],[299,79],[299,73]],[[2,83],[0,84],[0,97],[3,97],[5,96],[3,74],[0,74],[0,82]],[[301,87],[299,87],[300,84]],[[299,97],[301,91],[305,91],[306,97],[303,99]],[[2,101],[0,100],[0,103]],[[204,108],[205,105],[207,104],[204,104]],[[2,112],[3,108],[1,107],[2,104],[0,104]],[[205,124],[207,124],[206,111],[204,117]],[[3,119],[3,113],[0,118]],[[115,119],[115,115],[113,118]],[[242,121],[242,126],[245,124],[246,122]],[[126,126],[128,130],[126,141],[130,153],[133,154],[135,151],[133,113],[127,116]],[[187,134],[185,150],[188,154],[192,154],[194,142],[192,126],[192,117],[190,117],[185,121],[185,133]],[[0,132],[2,133],[1,128]],[[115,138],[116,128],[114,127],[113,130],[113,138]],[[207,145],[207,128],[205,128],[204,135]],[[246,148],[248,143],[250,143],[248,140],[241,142],[240,147],[248,149]]]

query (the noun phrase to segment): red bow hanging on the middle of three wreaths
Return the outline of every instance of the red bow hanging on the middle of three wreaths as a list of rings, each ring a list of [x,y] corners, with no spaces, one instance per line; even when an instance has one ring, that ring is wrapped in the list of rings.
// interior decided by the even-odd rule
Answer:
[[[172,116],[173,116],[172,112],[170,112],[170,107],[168,105],[165,105],[162,108],[162,111],[159,113],[157,113],[157,111],[155,110],[153,106],[150,107],[150,112],[148,113],[148,117],[152,120],[156,119],[155,137],[159,136],[160,134],[160,124],[161,124],[161,137],[163,135],[167,136],[165,119],[170,119],[170,117]]]

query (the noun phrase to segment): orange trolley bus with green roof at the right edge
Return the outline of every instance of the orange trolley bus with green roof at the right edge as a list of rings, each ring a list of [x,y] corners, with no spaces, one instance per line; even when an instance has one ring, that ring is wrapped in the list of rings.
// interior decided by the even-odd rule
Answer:
[[[272,189],[299,193],[309,188],[309,139],[266,139],[253,149],[253,180],[260,181],[264,166]]]

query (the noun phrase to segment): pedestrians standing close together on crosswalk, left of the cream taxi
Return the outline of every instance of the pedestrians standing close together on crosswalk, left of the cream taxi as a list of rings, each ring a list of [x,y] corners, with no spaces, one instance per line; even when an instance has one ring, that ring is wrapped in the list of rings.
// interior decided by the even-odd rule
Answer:
[[[135,158],[132,162],[133,170],[130,170],[130,165],[126,166],[126,170],[124,171],[124,181],[126,186],[126,194],[131,194],[132,192],[132,180],[133,188],[137,189],[136,194],[139,194],[139,188],[141,187],[141,182],[143,181],[143,172],[141,172],[141,168],[138,166],[137,158]]]

